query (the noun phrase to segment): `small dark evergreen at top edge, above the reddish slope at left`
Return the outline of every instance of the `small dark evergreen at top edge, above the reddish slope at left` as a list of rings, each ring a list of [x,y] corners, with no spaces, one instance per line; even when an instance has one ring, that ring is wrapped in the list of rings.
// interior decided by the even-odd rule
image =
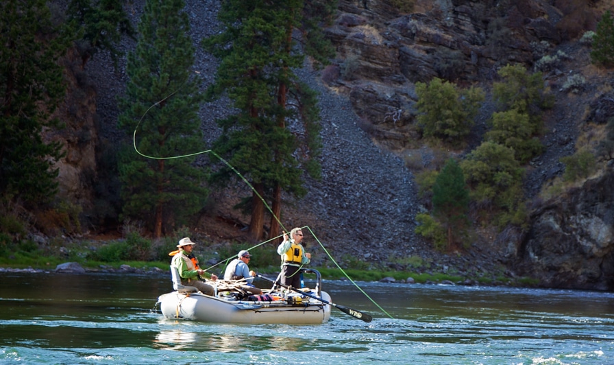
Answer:
[[[77,21],[82,27],[83,38],[77,43],[77,49],[83,67],[99,50],[108,50],[116,65],[122,34],[134,37],[121,0],[71,0],[68,14],[69,20]]]

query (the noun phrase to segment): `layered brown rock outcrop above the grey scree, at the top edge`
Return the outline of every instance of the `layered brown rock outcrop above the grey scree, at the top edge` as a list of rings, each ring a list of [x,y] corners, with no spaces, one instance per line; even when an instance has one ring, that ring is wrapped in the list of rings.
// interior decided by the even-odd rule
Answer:
[[[490,81],[500,67],[530,68],[562,38],[595,27],[589,4],[572,0],[556,1],[558,8],[537,0],[417,0],[410,14],[401,3],[340,0],[327,30],[341,77],[326,82],[349,95],[374,139],[397,150],[415,139],[416,82]],[[585,23],[579,30],[569,25],[576,18]]]

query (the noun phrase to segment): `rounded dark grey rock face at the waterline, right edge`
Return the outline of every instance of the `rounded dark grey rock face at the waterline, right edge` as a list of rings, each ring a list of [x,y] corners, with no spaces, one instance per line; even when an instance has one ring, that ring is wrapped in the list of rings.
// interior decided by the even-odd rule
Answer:
[[[614,171],[543,204],[516,266],[545,287],[614,290]]]

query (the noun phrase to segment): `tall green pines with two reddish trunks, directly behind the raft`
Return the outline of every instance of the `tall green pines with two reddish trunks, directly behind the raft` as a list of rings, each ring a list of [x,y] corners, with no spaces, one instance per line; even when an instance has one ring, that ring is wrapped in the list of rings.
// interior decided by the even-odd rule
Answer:
[[[316,36],[319,32],[312,14],[321,19],[332,10],[330,3],[224,1],[219,12],[223,32],[204,40],[206,48],[221,59],[210,95],[226,93],[238,110],[218,121],[223,135],[214,143],[214,150],[254,187],[249,204],[253,240],[261,239],[263,232],[260,197],[271,197],[269,237],[274,237],[282,191],[300,197],[306,192],[303,172],[319,176],[319,110],[315,94],[293,72],[304,61],[293,33],[299,30],[302,34],[301,44],[307,45],[303,51],[319,50],[316,59],[326,59],[330,47],[317,46],[323,38]],[[224,173],[222,169],[216,178]]]

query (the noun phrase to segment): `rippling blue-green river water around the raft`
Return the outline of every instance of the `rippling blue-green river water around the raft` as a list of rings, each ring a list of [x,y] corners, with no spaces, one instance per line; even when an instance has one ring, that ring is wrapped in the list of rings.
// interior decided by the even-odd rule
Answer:
[[[325,281],[373,322],[215,325],[164,319],[166,276],[0,279],[0,364],[614,364],[614,293]]]

